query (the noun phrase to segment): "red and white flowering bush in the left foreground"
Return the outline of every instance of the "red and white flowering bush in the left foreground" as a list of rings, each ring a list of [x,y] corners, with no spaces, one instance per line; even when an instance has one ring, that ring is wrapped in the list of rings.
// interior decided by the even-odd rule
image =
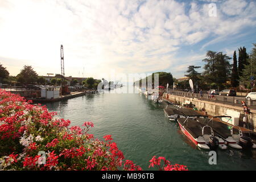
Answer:
[[[0,169],[142,170],[125,160],[111,135],[101,141],[89,134],[92,122],[85,122],[83,128],[69,125],[69,120],[57,118],[45,106],[31,105],[23,97],[0,89]],[[150,167],[154,166],[159,170],[186,170],[155,156],[150,160]]]

